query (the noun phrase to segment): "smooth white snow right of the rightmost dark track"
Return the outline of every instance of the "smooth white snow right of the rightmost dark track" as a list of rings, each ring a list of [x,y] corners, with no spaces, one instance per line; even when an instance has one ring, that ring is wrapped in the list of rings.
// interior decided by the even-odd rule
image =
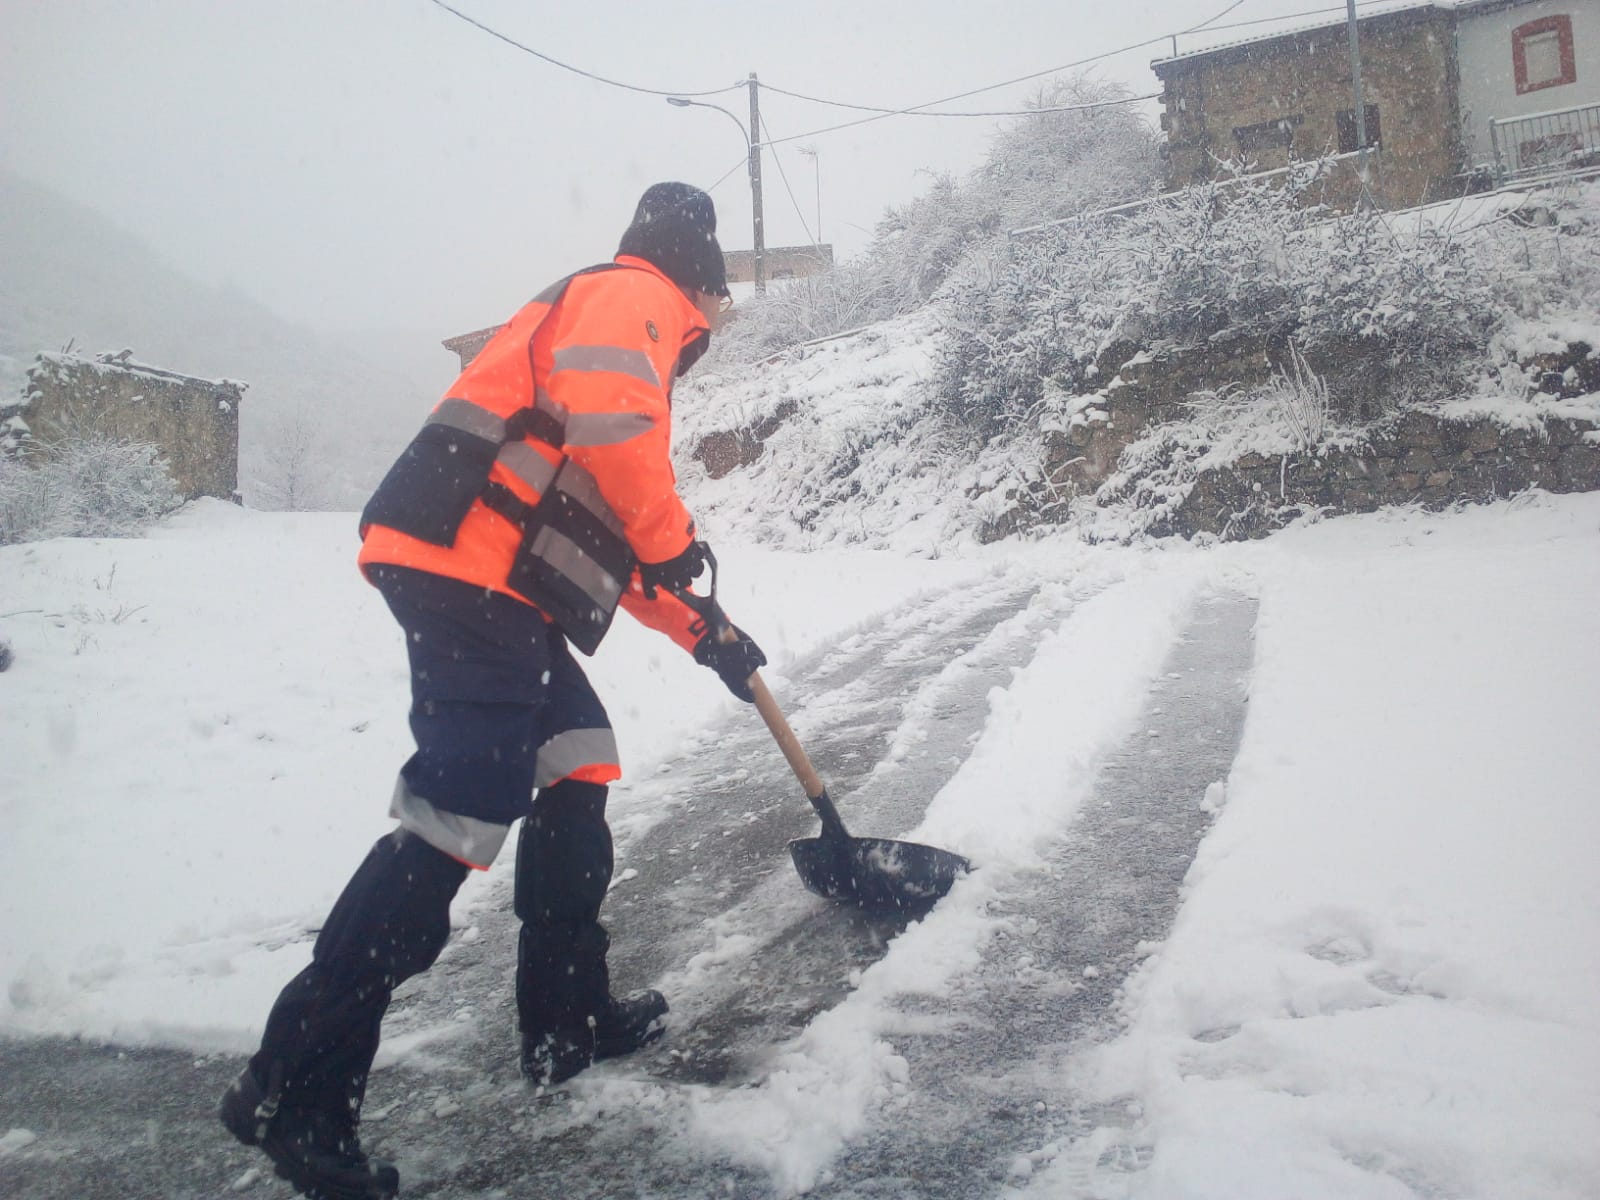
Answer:
[[[1592,1197],[1600,496],[1342,520],[1240,558],[1261,619],[1226,806],[1123,1035],[1082,1062],[1123,1120],[1050,1178]]]

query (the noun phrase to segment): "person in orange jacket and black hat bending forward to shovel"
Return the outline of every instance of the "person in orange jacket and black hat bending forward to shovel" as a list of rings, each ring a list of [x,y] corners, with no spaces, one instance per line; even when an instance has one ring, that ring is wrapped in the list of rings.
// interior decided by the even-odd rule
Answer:
[[[310,1197],[387,1197],[358,1125],[394,989],[450,934],[450,902],[517,840],[522,1070],[562,1083],[661,1034],[666,998],[614,997],[616,739],[570,645],[618,606],[750,701],[766,656],[685,602],[709,550],[677,494],[672,381],[728,294],[709,195],[650,187],[616,259],[541,293],[483,347],[362,514],[360,565],[406,634],[416,754],[390,816],[282,990],[221,1120]],[[728,634],[726,630],[731,630]]]

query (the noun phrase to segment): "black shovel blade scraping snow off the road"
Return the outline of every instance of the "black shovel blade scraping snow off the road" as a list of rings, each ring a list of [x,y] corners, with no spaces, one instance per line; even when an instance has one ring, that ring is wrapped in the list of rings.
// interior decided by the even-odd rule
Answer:
[[[789,843],[800,882],[864,909],[926,909],[971,870],[960,854],[882,837],[803,837]]]

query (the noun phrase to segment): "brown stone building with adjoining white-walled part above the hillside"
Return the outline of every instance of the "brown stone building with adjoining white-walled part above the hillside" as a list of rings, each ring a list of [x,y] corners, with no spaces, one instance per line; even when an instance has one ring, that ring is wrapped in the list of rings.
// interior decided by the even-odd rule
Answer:
[[[1421,0],[1360,18],[1373,198],[1403,208],[1483,186],[1493,171],[1475,168],[1493,158],[1488,122],[1526,109],[1530,62],[1546,107],[1600,102],[1595,8],[1592,0]],[[1266,171],[1360,149],[1342,19],[1174,54],[1152,69],[1163,85],[1168,190],[1210,179],[1226,162]],[[1347,162],[1325,198],[1350,203],[1357,194]]]

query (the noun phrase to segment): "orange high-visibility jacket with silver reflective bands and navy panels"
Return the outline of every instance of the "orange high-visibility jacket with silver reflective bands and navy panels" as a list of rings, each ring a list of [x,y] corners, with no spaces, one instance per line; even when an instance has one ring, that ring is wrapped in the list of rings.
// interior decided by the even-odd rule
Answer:
[[[634,560],[666,562],[694,538],[672,470],[670,392],[709,336],[645,259],[618,256],[541,293],[461,373],[374,493],[362,568],[506,592],[586,653],[618,605],[693,650],[704,622],[667,592],[646,600]]]

